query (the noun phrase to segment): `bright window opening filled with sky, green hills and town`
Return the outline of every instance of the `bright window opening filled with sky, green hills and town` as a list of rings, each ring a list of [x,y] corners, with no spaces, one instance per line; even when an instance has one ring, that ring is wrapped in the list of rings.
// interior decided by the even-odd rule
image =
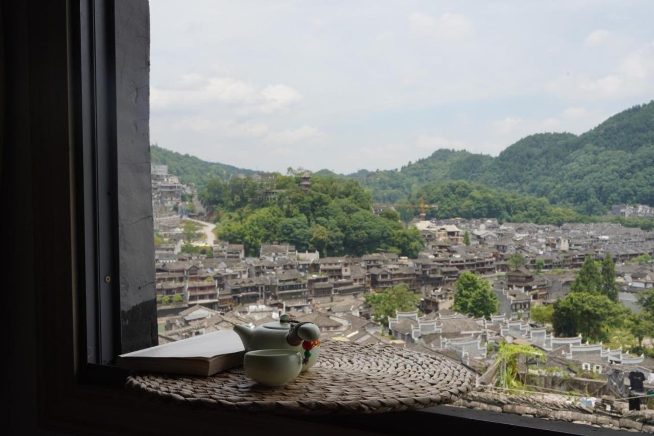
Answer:
[[[460,362],[462,407],[624,424],[654,384],[640,7],[150,7],[160,343],[289,313]]]

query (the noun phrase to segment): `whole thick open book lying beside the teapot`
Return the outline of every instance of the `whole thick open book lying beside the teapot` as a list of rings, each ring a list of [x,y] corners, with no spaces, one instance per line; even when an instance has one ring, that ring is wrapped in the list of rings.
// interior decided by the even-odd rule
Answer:
[[[243,364],[245,349],[232,330],[213,332],[118,356],[118,367],[186,375],[212,375]]]

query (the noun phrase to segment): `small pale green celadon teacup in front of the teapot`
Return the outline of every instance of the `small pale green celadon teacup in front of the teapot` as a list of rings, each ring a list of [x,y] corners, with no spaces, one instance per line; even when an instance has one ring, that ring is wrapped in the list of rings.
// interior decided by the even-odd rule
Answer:
[[[300,375],[302,356],[294,350],[255,350],[245,353],[245,373],[264,386],[281,386]]]

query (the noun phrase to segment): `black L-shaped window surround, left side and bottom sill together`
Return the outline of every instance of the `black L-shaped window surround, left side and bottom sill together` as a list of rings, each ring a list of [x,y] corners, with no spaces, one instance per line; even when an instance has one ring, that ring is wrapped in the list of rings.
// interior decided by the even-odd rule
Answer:
[[[147,140],[143,74],[147,76],[148,65],[138,43],[148,38],[147,1],[14,0],[3,2],[0,12],[3,23],[16,20],[8,26],[16,39],[8,52],[19,62],[12,64],[8,77],[18,80],[27,71],[28,82],[7,93],[10,108],[18,108],[12,120],[22,117],[10,125],[9,147],[22,149],[3,153],[9,160],[3,161],[2,179],[18,181],[25,170],[30,186],[24,192],[32,196],[29,202],[24,196],[10,196],[10,204],[31,204],[32,210],[25,218],[3,217],[3,223],[32,234],[31,251],[21,251],[23,257],[9,265],[16,277],[34,277],[18,297],[27,309],[34,309],[23,315],[29,322],[10,314],[12,328],[20,327],[11,332],[21,337],[10,344],[14,353],[7,358],[10,371],[5,373],[12,379],[9,392],[15,394],[10,395],[10,428],[179,435],[215,433],[220,426],[222,431],[263,433],[273,426],[298,428],[308,420],[313,432],[341,434],[404,432],[407,422],[441,431],[615,433],[455,407],[300,418],[206,413],[145,401],[122,390],[125,374],[112,371],[107,363],[118,352],[156,341],[156,315],[154,334],[148,330],[152,319],[146,324],[141,320],[150,310],[156,314],[154,268],[151,279],[149,270],[141,270],[153,259],[153,253],[142,250],[152,245],[147,244],[153,235],[152,215],[146,212],[152,207],[146,198],[149,144],[144,146],[139,136],[145,134]],[[118,62],[122,65],[117,67]],[[146,102],[145,116],[139,93],[141,103]],[[5,171],[10,164],[19,169]],[[135,198],[146,202],[133,204]],[[48,224],[54,228],[39,221],[46,213],[53,214]],[[39,253],[45,252],[52,258],[39,263]],[[130,336],[135,332],[142,334]],[[99,351],[89,353],[89,344]],[[168,416],[173,418],[164,419]]]

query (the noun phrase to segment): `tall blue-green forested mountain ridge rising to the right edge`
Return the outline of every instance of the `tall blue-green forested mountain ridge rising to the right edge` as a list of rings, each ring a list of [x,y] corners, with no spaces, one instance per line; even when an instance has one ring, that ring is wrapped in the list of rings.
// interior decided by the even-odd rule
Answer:
[[[618,203],[654,205],[654,102],[634,106],[579,136],[540,133],[498,157],[439,149],[400,171],[359,172],[378,202],[404,201],[426,182],[477,181],[598,214]]]

